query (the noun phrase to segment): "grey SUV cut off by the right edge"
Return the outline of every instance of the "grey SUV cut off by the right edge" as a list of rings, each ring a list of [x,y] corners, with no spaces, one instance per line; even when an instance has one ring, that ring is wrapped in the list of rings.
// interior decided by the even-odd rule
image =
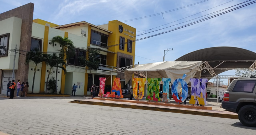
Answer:
[[[256,79],[233,80],[222,101],[222,108],[238,113],[245,126],[256,127]]]

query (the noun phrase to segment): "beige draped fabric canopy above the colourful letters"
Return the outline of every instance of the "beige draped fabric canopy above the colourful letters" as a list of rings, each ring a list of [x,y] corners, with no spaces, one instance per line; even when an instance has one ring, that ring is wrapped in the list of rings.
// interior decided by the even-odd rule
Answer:
[[[187,74],[185,81],[188,83],[190,78],[200,77],[201,71],[192,69],[199,69],[202,63],[203,61],[164,61],[140,64],[135,68],[124,70],[125,82],[128,83],[132,79],[134,72],[142,72],[148,78],[170,78],[171,82]]]

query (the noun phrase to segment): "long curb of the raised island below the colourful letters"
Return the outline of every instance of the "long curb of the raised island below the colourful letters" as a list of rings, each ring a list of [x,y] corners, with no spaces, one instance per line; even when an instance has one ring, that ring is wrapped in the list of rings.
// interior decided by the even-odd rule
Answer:
[[[154,110],[154,111],[160,111],[160,112],[183,113],[183,114],[192,114],[192,115],[219,117],[219,118],[238,119],[238,115],[234,115],[234,114],[200,112],[196,110],[180,110],[180,109],[136,106],[136,105],[130,105],[130,104],[102,103],[102,102],[80,101],[80,100],[70,101],[69,103],[90,104],[90,105],[109,106],[109,107],[122,107],[122,108],[142,109],[142,110]]]

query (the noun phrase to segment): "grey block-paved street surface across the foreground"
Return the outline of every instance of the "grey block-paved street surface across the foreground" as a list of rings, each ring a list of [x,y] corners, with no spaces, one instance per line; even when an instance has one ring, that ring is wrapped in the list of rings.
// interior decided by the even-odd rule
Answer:
[[[239,120],[68,103],[83,97],[0,97],[10,135],[255,135]]]

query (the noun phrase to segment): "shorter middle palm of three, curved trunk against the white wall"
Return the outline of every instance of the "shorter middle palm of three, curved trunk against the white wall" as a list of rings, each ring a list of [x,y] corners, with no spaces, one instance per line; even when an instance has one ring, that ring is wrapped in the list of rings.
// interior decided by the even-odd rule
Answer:
[[[49,76],[50,73],[52,71],[53,67],[59,67],[61,68],[65,73],[66,73],[66,69],[63,67],[63,65],[66,66],[66,63],[63,59],[59,58],[59,56],[57,56],[56,53],[53,54],[47,54],[47,59],[45,60],[46,64],[50,66],[50,70],[47,76],[47,80],[46,80],[46,93],[47,93],[47,88],[48,88],[48,80],[49,80]],[[59,66],[61,65],[61,66]],[[56,71],[57,72],[57,71]],[[56,89],[57,90],[57,89]]]

